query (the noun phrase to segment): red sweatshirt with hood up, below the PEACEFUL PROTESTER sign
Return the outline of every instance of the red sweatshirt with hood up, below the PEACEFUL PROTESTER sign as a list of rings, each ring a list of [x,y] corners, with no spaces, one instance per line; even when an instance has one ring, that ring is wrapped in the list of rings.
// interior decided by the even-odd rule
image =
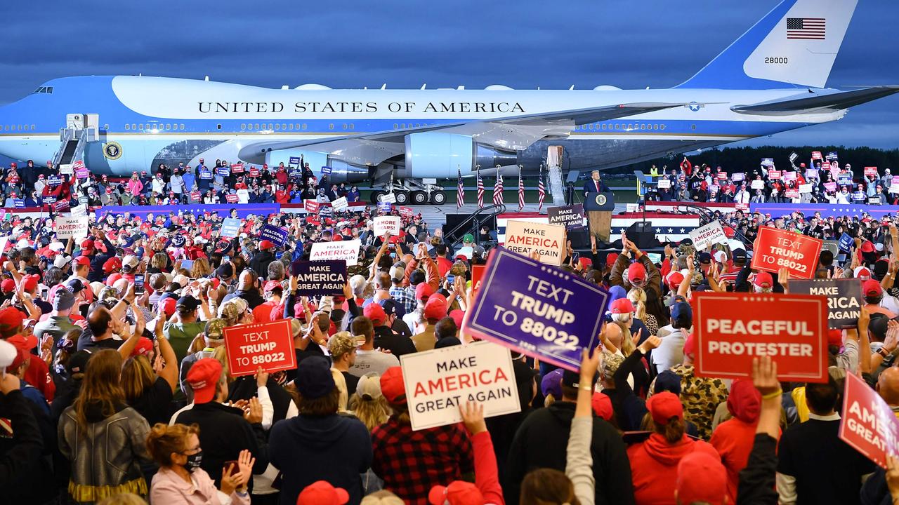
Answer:
[[[708,443],[716,448],[727,469],[727,502],[736,503],[740,471],[749,461],[761,414],[761,394],[751,380],[738,380],[731,385],[727,412],[733,419],[719,424]]]

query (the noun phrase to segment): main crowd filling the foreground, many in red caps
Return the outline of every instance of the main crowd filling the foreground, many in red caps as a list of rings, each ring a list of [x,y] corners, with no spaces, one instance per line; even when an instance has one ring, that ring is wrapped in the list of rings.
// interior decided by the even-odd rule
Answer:
[[[720,217],[742,244],[684,240],[656,262],[626,235],[620,253],[569,249],[561,268],[610,293],[600,348],[579,372],[512,352],[521,412],[466,403],[463,422],[413,430],[399,358],[473,341],[461,328],[488,252],[420,215],[375,235],[374,212],[249,216],[233,238],[214,212],[111,214],[66,240],[52,219],[0,223],[0,502],[899,501],[899,462],[879,468],[838,437],[847,375],[899,415],[894,220],[735,211]],[[258,238],[266,224],[284,245]],[[853,239],[815,274],[864,294],[858,329],[828,333],[828,382],[781,383],[768,358],[751,379],[694,373],[692,293],[789,289],[785,272],[751,269],[761,226]],[[293,261],[352,239],[342,296],[298,288]],[[225,330],[279,320],[297,367],[234,377]]]

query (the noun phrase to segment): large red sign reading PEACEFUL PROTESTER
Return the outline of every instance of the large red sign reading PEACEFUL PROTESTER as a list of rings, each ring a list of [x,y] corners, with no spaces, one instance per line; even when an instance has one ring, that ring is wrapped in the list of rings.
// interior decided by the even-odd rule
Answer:
[[[772,293],[693,294],[697,377],[750,377],[770,356],[780,380],[827,380],[827,298]]]

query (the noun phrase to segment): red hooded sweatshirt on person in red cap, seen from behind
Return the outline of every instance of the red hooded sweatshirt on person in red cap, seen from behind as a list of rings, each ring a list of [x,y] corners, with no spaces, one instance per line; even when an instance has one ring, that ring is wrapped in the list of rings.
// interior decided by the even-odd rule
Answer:
[[[718,457],[715,447],[686,435],[677,443],[670,444],[663,435],[653,433],[644,442],[628,447],[636,505],[675,505],[677,465],[683,456],[693,451]],[[697,475],[696,478],[702,476]]]

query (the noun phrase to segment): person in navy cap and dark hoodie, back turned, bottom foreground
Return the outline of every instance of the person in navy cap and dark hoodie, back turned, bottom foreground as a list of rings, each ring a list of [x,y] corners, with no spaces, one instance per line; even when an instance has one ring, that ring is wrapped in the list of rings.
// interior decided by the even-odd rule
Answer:
[[[303,360],[291,383],[297,392],[297,417],[271,428],[271,465],[280,470],[280,504],[297,503],[299,492],[326,481],[362,499],[362,480],[371,465],[369,430],[354,417],[338,415],[340,389],[334,384],[331,360],[313,356]]]

